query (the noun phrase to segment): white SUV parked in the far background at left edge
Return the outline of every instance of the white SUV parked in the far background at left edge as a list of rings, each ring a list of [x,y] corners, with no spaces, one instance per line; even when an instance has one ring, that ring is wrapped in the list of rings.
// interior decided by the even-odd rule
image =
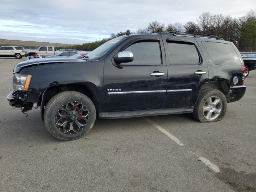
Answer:
[[[24,47],[20,46],[2,46],[0,47],[0,57],[14,56],[16,59],[21,59],[26,53]]]

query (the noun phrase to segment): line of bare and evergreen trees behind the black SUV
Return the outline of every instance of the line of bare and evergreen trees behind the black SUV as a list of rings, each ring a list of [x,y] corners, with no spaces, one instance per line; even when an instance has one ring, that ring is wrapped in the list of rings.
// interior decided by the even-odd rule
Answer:
[[[253,10],[238,18],[203,12],[198,16],[196,22],[189,21],[186,24],[175,22],[165,25],[159,21],[152,21],[148,23],[146,28],[140,28],[132,33],[148,34],[164,31],[214,35],[233,42],[240,51],[256,51],[256,14]],[[82,45],[67,46],[65,48],[90,51],[112,38],[132,33],[126,30],[126,32],[113,33],[110,35],[110,38]]]

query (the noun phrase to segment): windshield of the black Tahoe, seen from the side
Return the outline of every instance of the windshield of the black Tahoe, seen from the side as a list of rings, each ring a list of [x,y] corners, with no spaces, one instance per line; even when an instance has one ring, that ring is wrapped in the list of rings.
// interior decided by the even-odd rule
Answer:
[[[88,53],[86,55],[86,60],[97,60],[98,58],[101,58],[107,52],[109,52],[114,46],[120,44],[120,42],[122,42],[122,40],[124,40],[124,38],[125,37],[122,37],[122,36],[121,37],[117,37],[117,38],[114,38],[114,39],[109,40],[108,42],[102,44],[98,48],[94,49],[92,52]],[[72,58],[74,56],[72,56]]]

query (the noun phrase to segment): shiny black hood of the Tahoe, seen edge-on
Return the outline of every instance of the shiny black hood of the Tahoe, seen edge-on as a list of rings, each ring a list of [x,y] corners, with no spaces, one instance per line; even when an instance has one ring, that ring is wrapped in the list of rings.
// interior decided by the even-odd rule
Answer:
[[[13,72],[14,73],[20,72],[22,68],[28,67],[28,66],[36,66],[36,65],[43,65],[43,64],[49,64],[49,63],[80,62],[80,61],[84,61],[84,60],[70,59],[70,58],[36,58],[36,59],[30,59],[30,60],[26,60],[18,63],[14,67]]]

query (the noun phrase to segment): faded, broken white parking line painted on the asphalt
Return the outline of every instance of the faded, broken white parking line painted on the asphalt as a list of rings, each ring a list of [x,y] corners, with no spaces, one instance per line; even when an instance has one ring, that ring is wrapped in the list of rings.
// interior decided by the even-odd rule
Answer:
[[[176,138],[174,135],[170,134],[168,131],[166,131],[164,128],[162,128],[161,126],[159,126],[158,124],[156,124],[154,121],[150,120],[149,118],[145,118],[145,120],[147,122],[149,122],[150,124],[152,124],[155,128],[157,128],[158,130],[160,130],[161,132],[163,132],[164,134],[166,134],[166,136],[168,136],[171,140],[173,140],[174,142],[176,142],[178,145],[180,146],[184,146],[184,144],[178,139]],[[208,166],[210,169],[212,169],[214,172],[218,173],[220,172],[220,169],[218,168],[218,166],[214,165],[212,162],[210,162],[208,159],[206,159],[205,157],[201,157],[198,154],[194,153],[194,152],[190,152],[188,151],[188,153],[194,154],[196,155],[196,157],[198,158],[198,160],[200,160],[201,162],[203,162],[204,164],[206,164],[206,166]]]

